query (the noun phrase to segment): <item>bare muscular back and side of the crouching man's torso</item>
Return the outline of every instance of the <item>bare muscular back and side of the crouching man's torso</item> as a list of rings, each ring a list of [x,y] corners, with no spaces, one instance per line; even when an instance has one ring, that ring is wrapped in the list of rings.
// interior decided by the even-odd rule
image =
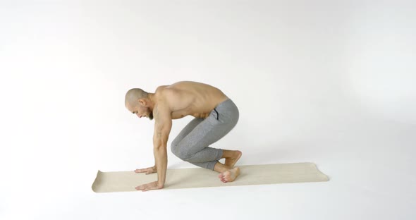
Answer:
[[[176,82],[157,88],[155,96],[159,102],[166,102],[171,109],[172,119],[184,116],[206,118],[216,105],[228,97],[221,90],[200,82]]]

